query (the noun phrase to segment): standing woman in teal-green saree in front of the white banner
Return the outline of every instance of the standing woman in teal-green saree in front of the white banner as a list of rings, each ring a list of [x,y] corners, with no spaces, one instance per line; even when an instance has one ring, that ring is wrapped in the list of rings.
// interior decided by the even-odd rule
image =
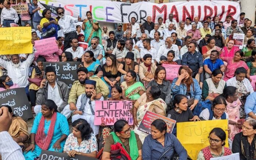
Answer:
[[[92,12],[86,12],[87,19],[83,21],[82,30],[84,30],[85,42],[88,43],[90,47],[90,40],[97,36],[100,39],[100,44],[102,44],[102,30],[100,24],[95,19],[92,19]]]

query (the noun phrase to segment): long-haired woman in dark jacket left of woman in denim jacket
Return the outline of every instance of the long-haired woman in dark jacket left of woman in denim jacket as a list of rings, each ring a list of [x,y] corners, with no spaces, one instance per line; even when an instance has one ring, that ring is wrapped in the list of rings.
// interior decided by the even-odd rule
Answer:
[[[158,66],[154,74],[154,80],[150,81],[147,88],[157,86],[160,88],[161,94],[159,98],[166,103],[171,101],[171,83],[166,80],[166,69],[163,66]]]

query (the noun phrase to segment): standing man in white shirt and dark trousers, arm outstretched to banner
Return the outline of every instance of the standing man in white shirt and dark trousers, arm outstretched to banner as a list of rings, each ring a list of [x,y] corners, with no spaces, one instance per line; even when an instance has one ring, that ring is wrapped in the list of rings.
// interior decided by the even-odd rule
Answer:
[[[56,9],[58,16],[60,17],[60,20],[58,21],[58,25],[60,26],[64,36],[64,51],[67,48],[71,47],[71,44],[69,43],[71,39],[78,39],[77,35],[77,29],[75,28],[74,23],[82,22],[82,19],[78,16],[78,18],[74,18],[70,15],[65,15],[65,10],[62,7],[58,7]]]

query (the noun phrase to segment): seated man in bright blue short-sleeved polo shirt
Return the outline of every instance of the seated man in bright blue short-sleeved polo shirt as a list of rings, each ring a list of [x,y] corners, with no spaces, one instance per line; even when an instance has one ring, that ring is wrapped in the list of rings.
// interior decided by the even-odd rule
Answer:
[[[203,68],[205,69],[205,78],[208,79],[211,77],[211,72],[215,69],[220,69],[222,72],[225,70],[223,61],[219,58],[220,54],[217,50],[212,50],[210,58],[205,59],[203,62]]]

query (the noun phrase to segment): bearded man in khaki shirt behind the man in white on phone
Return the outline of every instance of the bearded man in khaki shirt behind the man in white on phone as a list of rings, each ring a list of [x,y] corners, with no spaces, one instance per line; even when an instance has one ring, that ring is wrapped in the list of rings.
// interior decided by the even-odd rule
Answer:
[[[100,99],[102,96],[107,98],[109,95],[109,87],[97,76],[87,77],[88,70],[85,67],[78,68],[77,70],[78,80],[74,81],[70,95],[68,97],[68,105],[63,109],[62,114],[67,117],[71,116],[72,111],[77,110],[76,102],[79,95],[85,93],[85,81],[94,80],[96,81],[96,99]]]

